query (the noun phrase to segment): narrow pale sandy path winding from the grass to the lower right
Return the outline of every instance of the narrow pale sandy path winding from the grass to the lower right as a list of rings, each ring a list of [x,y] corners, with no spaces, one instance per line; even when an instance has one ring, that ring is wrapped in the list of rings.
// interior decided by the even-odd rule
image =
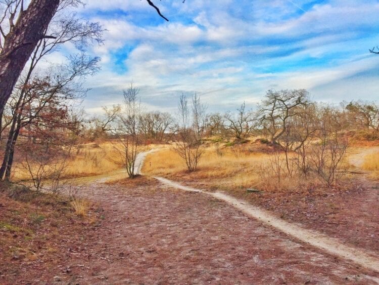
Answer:
[[[150,151],[153,152],[154,150]],[[144,159],[148,153],[140,153],[138,156],[138,172],[143,165]],[[140,172],[139,172],[140,173]],[[181,185],[177,182],[171,181],[162,177],[154,177],[166,186],[181,189],[184,191],[200,192],[206,195],[212,196],[213,198],[223,200],[234,208],[244,212],[248,216],[257,219],[265,224],[268,224],[286,234],[295,237],[298,240],[308,243],[309,245],[322,249],[323,251],[333,254],[335,256],[351,260],[356,264],[363,266],[365,268],[371,269],[373,271],[379,271],[379,260],[375,258],[368,252],[356,249],[353,247],[348,247],[343,245],[338,239],[331,238],[320,232],[304,229],[301,226],[295,225],[293,223],[286,222],[276,216],[272,215],[268,211],[262,210],[259,207],[250,205],[249,203],[236,199],[230,195],[222,192],[208,192],[202,189],[196,189],[193,187],[188,187]],[[377,280],[379,282],[379,280]]]

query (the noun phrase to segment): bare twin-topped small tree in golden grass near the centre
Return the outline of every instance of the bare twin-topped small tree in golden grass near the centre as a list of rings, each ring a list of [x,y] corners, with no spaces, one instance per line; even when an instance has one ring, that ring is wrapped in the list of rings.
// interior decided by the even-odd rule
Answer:
[[[179,98],[179,124],[177,126],[178,141],[175,151],[185,161],[188,171],[196,171],[202,155],[200,146],[204,134],[204,118],[206,107],[200,103],[195,93],[192,106],[188,106],[187,98],[182,94]],[[190,112],[192,112],[190,114]]]

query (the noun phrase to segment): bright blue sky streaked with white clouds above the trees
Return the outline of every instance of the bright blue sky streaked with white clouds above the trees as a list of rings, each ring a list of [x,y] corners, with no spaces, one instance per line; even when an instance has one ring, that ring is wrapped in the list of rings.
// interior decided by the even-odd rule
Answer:
[[[102,71],[88,78],[89,113],[121,102],[130,80],[149,110],[173,111],[198,92],[210,111],[254,107],[268,89],[310,91],[314,100],[379,99],[379,1],[87,0],[100,22],[91,51]]]

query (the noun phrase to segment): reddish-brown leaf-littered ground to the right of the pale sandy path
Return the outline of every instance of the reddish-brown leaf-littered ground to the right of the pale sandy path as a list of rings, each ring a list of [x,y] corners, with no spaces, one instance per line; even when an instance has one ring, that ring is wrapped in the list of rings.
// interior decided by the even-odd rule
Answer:
[[[191,182],[181,175],[170,179],[214,191],[207,181]],[[226,193],[289,222],[339,238],[346,245],[369,250],[379,258],[379,182],[357,174],[349,183],[339,190],[247,193],[239,189]]]

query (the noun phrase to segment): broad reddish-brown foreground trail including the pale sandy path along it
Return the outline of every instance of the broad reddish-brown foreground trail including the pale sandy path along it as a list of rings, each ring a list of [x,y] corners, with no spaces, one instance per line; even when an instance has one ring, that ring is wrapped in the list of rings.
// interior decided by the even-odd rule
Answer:
[[[138,155],[138,173],[146,155]],[[62,281],[379,284],[379,261],[337,239],[225,193],[138,179],[78,186],[103,221],[66,253],[59,268],[72,271],[59,274]]]

